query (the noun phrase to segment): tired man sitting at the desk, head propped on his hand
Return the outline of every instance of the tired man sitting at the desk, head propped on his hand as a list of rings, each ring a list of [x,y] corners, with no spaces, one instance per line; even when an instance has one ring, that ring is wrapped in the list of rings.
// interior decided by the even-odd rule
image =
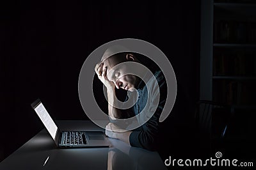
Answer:
[[[128,115],[131,116],[131,112],[133,115],[138,115],[141,111],[152,112],[150,107],[145,107],[148,96],[151,97],[150,100],[148,100],[151,102],[149,105],[156,105],[154,102],[158,101],[156,100],[157,97],[159,98],[159,102],[157,103],[154,112],[150,114],[152,117],[150,117],[141,127],[132,131],[127,131],[118,127],[115,123],[109,123],[106,126],[106,135],[108,137],[120,139],[131,146],[145,148],[147,150],[156,150],[156,146],[159,145],[159,142],[161,143],[161,141],[159,141],[161,139],[161,137],[159,137],[159,131],[161,131],[159,117],[163,111],[167,93],[164,75],[161,70],[156,70],[154,72],[153,78],[156,78],[159,90],[152,90],[156,89],[156,84],[152,81],[152,77],[148,77],[149,74],[146,70],[141,69],[140,74],[142,77],[147,77],[142,81],[140,77],[129,74],[128,72],[131,68],[125,66],[125,62],[128,61],[140,63],[142,65],[146,65],[147,63],[141,62],[136,54],[133,54],[132,52],[113,53],[114,52],[111,51],[111,49],[106,50],[100,63],[97,63],[95,66],[95,72],[107,89],[109,117],[112,120],[115,120],[116,118],[124,118]],[[115,66],[120,63],[124,63],[124,65],[116,68]],[[128,91],[127,98],[131,97],[131,95],[129,95],[130,93],[135,90],[138,91],[138,100],[132,108],[118,109],[114,106],[116,102],[116,89],[120,88]]]

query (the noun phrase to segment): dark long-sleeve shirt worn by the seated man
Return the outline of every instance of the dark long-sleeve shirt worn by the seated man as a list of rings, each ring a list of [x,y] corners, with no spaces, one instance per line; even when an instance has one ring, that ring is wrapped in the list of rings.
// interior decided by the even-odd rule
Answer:
[[[138,84],[138,100],[131,108],[131,111],[134,112],[135,115],[140,114],[141,111],[152,112],[152,110],[154,110],[152,108],[156,108],[156,111],[152,113],[153,115],[151,114],[152,117],[143,124],[142,127],[133,130],[129,138],[131,146],[145,148],[147,150],[156,150],[156,145],[159,143],[157,141],[159,139],[159,130],[161,129],[159,117],[163,111],[167,94],[166,80],[163,72],[157,71],[154,73],[154,77],[156,77],[157,84],[153,81],[153,77],[146,79],[147,82],[141,81]],[[157,86],[159,86],[159,90]],[[156,103],[158,97],[159,102]],[[145,107],[147,101],[150,102],[149,107]]]

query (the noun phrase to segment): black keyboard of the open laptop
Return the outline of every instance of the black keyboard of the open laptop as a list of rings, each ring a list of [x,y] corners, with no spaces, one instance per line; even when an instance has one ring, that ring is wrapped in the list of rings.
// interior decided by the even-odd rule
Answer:
[[[86,144],[85,132],[63,132],[63,144]]]

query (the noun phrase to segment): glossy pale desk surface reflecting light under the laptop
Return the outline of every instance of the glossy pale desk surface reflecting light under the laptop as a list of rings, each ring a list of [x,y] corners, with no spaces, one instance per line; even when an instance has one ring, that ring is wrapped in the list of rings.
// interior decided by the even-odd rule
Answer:
[[[61,130],[102,130],[91,121],[56,123]],[[44,129],[4,159],[0,169],[166,169],[157,152],[109,141],[110,148],[60,149]]]

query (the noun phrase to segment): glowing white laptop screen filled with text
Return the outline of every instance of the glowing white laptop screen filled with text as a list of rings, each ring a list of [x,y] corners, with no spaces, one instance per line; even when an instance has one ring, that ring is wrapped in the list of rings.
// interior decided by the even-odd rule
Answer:
[[[55,138],[56,132],[58,130],[58,127],[52,120],[51,116],[49,113],[46,111],[44,105],[40,103],[36,108],[35,108],[36,114],[38,114],[40,120],[44,123],[45,127],[47,128],[48,132],[51,134],[52,139]]]

